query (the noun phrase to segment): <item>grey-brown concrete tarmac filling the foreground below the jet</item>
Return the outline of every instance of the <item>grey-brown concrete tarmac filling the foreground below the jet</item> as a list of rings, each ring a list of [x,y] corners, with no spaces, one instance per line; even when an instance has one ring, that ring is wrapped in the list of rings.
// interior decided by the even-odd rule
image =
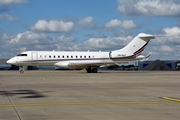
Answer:
[[[179,71],[0,71],[0,120],[179,119]]]

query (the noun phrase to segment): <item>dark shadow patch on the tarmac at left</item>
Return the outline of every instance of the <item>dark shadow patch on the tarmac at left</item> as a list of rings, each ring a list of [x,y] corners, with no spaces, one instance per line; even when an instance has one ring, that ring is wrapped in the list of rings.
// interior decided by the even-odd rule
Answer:
[[[47,97],[40,92],[35,90],[11,90],[11,91],[0,91],[0,95],[3,96],[20,96],[20,98],[43,98]]]

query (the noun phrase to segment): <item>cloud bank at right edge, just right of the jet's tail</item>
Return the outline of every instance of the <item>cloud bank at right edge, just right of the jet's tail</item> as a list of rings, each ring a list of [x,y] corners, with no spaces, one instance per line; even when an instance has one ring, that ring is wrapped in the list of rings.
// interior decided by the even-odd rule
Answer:
[[[157,36],[147,46],[146,51],[152,52],[150,59],[178,60],[180,54],[180,28],[163,28],[162,31],[164,35]]]

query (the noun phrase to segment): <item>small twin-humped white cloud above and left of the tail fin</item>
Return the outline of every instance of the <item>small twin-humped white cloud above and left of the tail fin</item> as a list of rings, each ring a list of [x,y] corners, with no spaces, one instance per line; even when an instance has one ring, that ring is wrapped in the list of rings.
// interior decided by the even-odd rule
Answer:
[[[105,24],[105,27],[108,29],[117,28],[117,27],[121,27],[124,29],[132,29],[135,28],[136,26],[137,25],[132,20],[124,20],[123,22],[121,22],[118,19],[111,20]]]

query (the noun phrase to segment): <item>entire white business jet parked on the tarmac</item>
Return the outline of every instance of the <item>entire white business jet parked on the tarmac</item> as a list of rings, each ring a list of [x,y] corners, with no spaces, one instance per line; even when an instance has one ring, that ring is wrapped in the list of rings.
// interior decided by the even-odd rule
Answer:
[[[155,36],[140,33],[129,44],[119,50],[102,51],[26,51],[9,59],[8,64],[19,66],[20,73],[24,73],[23,66],[57,66],[61,68],[86,69],[87,73],[97,73],[99,67],[128,63],[135,60],[147,60],[141,55],[145,46]]]

